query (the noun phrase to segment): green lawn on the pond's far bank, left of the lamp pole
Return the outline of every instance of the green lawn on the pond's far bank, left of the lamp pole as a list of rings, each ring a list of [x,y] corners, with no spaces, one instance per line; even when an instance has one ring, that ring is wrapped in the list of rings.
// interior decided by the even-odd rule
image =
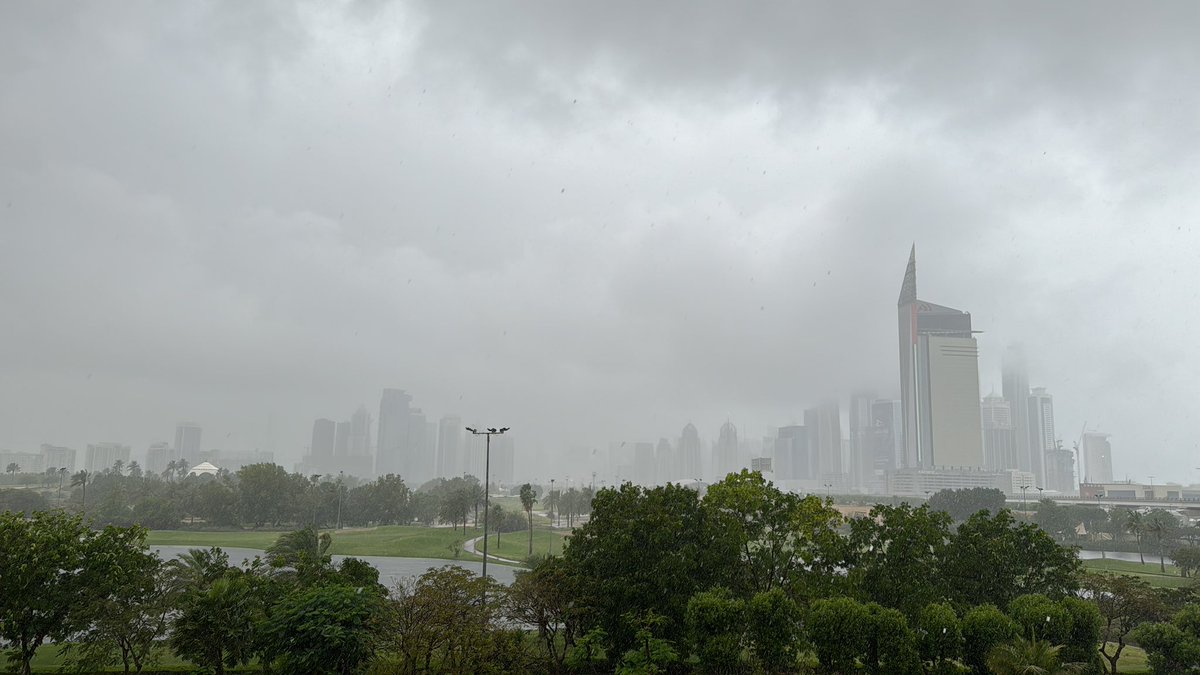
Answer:
[[[154,530],[146,537],[151,545],[222,546],[266,549],[282,532],[192,532],[187,530]],[[338,555],[388,555],[401,557],[454,558],[451,544],[462,544],[479,532],[467,528],[419,527],[391,525],[371,530],[342,530],[332,532],[332,552]],[[467,556],[470,557],[470,556]]]

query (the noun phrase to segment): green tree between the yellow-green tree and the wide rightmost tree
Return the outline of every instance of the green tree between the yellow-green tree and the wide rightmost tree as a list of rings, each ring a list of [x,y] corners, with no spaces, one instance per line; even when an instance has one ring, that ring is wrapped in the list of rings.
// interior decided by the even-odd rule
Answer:
[[[946,596],[938,574],[950,516],[928,506],[877,504],[850,522],[847,578],[871,601],[916,617]]]

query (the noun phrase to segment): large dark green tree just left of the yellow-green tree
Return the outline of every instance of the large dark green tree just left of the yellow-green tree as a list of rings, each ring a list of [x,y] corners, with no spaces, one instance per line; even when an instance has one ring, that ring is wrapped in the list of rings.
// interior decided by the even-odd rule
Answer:
[[[695,490],[678,485],[601,490],[592,518],[565,551],[586,628],[604,628],[619,653],[634,647],[624,616],[653,610],[665,619],[664,635],[682,637],[688,599],[726,585],[739,568],[738,543]]]

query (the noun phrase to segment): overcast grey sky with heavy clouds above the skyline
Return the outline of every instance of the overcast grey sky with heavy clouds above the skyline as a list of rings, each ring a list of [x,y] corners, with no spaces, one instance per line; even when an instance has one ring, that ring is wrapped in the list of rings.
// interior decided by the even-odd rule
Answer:
[[[0,4],[0,447],[290,466],[407,389],[558,448],[898,394],[896,297],[1200,479],[1195,2]],[[844,402],[845,405],[845,402]]]

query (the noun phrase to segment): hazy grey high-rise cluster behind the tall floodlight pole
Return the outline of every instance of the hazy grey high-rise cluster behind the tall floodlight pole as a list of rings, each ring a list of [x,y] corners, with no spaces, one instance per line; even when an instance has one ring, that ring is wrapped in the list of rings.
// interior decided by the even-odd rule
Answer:
[[[466,431],[457,414],[445,414],[433,422],[412,404],[413,396],[401,389],[383,390],[373,444],[372,419],[365,406],[359,406],[346,422],[314,420],[312,443],[296,470],[360,478],[395,473],[414,488],[438,477],[482,479],[484,440]],[[492,438],[492,483],[512,483],[515,455],[511,435]]]

